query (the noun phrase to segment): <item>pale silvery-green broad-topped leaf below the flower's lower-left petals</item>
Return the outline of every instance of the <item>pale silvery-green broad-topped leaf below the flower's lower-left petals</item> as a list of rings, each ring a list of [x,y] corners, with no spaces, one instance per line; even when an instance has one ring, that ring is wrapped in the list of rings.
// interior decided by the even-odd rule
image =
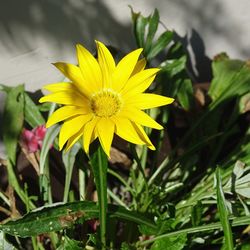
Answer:
[[[68,201],[68,194],[70,188],[70,181],[72,177],[72,171],[75,164],[76,155],[81,149],[80,143],[75,143],[73,147],[68,152],[63,152],[62,160],[65,166],[66,175],[65,175],[65,185],[64,185],[64,195],[63,195],[63,202]]]

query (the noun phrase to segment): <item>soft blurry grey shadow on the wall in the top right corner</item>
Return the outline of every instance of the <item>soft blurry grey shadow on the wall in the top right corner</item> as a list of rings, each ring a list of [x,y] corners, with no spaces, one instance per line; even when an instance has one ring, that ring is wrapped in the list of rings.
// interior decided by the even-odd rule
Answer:
[[[163,8],[163,1],[161,4]],[[215,41],[223,39],[224,41],[228,41],[243,58],[246,55],[250,57],[249,46],[243,40],[244,32],[247,31],[247,25],[246,23],[240,23],[239,20],[241,19],[236,20],[236,17],[241,14],[236,2],[231,3],[235,6],[234,15],[225,8],[227,5],[226,0],[176,0],[165,3],[166,10],[168,4],[175,5],[176,8],[183,10],[182,20],[186,27],[194,28],[200,34],[209,35],[209,37],[203,37],[203,39],[214,39]],[[249,7],[246,2],[241,3],[241,5],[245,5],[246,8]]]

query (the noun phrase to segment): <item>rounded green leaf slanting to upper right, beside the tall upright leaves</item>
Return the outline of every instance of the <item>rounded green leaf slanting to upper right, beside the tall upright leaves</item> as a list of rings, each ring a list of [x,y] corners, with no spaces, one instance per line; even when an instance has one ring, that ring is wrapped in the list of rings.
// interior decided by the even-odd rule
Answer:
[[[166,46],[172,41],[173,32],[165,31],[160,35],[157,41],[152,45],[150,52],[147,55],[147,59],[151,60],[155,56],[157,56],[162,50],[166,48]]]

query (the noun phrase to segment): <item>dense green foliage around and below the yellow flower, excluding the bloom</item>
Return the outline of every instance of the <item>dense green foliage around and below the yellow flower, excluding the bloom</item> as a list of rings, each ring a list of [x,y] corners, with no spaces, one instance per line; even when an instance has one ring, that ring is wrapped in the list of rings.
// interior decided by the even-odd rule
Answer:
[[[36,105],[23,85],[0,85],[6,93],[2,122],[8,159],[3,165],[15,191],[8,196],[0,187],[7,218],[0,224],[0,244],[11,247],[6,234],[20,249],[28,240],[19,238],[31,236],[34,249],[43,249],[45,241],[53,249],[248,249],[249,62],[226,54],[215,57],[213,79],[202,89],[200,103],[178,34],[165,27],[159,34],[157,10],[147,17],[132,10],[132,19],[147,64],[161,68],[149,91],[175,98],[170,108],[147,111],[167,128],[147,130],[157,150],[123,147],[118,140],[114,159],[96,150],[95,143],[90,155],[79,142],[61,153],[60,124],[55,125],[47,130],[40,152],[26,152],[38,164],[34,191],[18,168],[20,133],[44,124],[47,113],[42,112],[51,114],[56,106]],[[90,201],[97,200],[96,193],[98,201]],[[63,203],[55,202],[61,198]]]

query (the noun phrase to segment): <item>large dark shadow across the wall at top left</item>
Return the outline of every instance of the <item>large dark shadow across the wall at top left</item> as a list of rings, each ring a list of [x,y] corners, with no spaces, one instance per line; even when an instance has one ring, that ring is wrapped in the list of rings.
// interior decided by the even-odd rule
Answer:
[[[1,43],[6,49],[33,49],[39,35],[59,51],[77,42],[93,47],[95,39],[104,38],[124,50],[135,46],[132,27],[118,23],[100,0],[4,1],[0,24]]]

